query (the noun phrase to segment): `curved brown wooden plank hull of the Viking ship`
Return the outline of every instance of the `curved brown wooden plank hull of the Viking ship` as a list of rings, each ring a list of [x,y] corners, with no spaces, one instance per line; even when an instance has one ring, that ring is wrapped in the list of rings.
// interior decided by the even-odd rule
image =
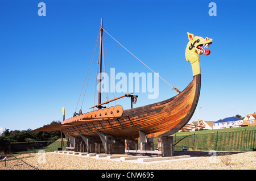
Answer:
[[[98,137],[97,131],[120,139],[138,138],[139,131],[146,133],[147,138],[168,136],[191,119],[199,100],[200,86],[201,74],[197,74],[180,94],[162,102],[124,110],[120,117],[90,119],[82,114],[72,117],[70,123],[67,120],[61,125],[46,125],[38,131],[61,130],[66,137],[79,137],[80,134]]]

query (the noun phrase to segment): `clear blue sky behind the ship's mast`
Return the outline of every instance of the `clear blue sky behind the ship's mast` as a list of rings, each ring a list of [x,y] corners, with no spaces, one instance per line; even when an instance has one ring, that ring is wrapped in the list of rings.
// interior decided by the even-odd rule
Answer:
[[[38,15],[39,2],[46,3],[46,16]],[[216,3],[217,16],[209,16],[210,2]],[[66,118],[72,117],[101,18],[110,35],[180,90],[192,80],[191,64],[185,60],[187,32],[212,38],[210,55],[200,56],[199,119],[217,121],[254,113],[255,7],[253,0],[1,0],[0,128],[42,127],[62,120],[62,107]],[[104,37],[110,68],[123,73],[151,72],[106,33]],[[97,57],[83,112],[93,106],[96,61]],[[176,92],[159,79],[157,99],[147,99],[148,93],[137,95],[134,107],[171,98]],[[130,106],[127,98],[116,104]],[[191,121],[197,120],[197,116],[196,110]]]

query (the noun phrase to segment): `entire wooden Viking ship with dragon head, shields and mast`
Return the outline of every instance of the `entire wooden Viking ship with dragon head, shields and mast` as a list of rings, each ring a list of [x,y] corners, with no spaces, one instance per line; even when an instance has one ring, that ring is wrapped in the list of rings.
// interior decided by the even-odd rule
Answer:
[[[102,28],[101,19],[100,73],[103,31],[105,30]],[[99,137],[98,133],[104,133],[123,140],[139,138],[139,132],[144,132],[147,138],[169,136],[176,133],[188,123],[195,112],[201,87],[199,54],[208,55],[210,50],[207,48],[212,44],[212,39],[208,37],[204,39],[191,33],[188,33],[188,40],[185,58],[191,62],[193,79],[183,91],[173,87],[179,93],[176,96],[158,103],[123,110],[120,105],[104,108],[102,105],[112,100],[101,103],[101,92],[99,91],[98,105],[94,106],[98,110],[74,115],[61,124],[45,125],[35,129],[34,132],[61,131],[65,137]],[[101,87],[100,83],[101,79],[99,87]],[[124,96],[134,98],[133,93]]]

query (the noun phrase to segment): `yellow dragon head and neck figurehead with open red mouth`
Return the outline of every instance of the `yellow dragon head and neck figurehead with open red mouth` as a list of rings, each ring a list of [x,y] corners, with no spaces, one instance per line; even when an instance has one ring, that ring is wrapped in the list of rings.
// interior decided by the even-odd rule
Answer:
[[[188,32],[188,40],[189,42],[185,50],[185,57],[187,61],[191,62],[194,76],[201,73],[199,54],[210,54],[210,50],[207,48],[212,44],[212,39],[209,39],[208,37],[205,37],[204,39],[203,37],[194,36]]]

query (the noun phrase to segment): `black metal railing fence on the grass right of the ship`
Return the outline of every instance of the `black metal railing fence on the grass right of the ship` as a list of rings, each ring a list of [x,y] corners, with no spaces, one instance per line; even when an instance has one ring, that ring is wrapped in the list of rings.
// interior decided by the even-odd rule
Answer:
[[[256,150],[256,129],[217,131],[213,133],[175,134],[174,149],[242,151]]]

